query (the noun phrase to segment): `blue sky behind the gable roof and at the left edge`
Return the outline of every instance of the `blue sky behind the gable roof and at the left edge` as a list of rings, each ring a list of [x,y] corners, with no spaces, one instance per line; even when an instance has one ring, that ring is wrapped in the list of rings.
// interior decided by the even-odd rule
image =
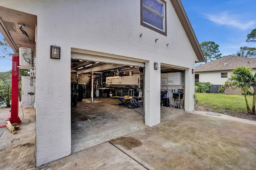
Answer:
[[[256,0],[181,2],[199,43],[214,41],[222,56],[236,54],[240,47],[256,47],[255,43],[245,42],[247,34],[256,28]],[[11,69],[11,61],[0,59],[0,72]]]

